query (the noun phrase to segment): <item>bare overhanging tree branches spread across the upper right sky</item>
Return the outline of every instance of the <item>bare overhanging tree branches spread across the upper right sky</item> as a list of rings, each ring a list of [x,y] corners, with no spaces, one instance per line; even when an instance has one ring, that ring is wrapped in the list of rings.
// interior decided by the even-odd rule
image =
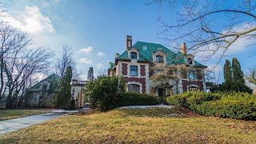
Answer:
[[[159,18],[162,30],[158,37],[177,47],[181,41],[187,50],[200,54],[204,60],[214,56],[218,62],[235,42],[241,40],[246,46],[255,44],[256,1],[243,0],[226,6],[226,0],[149,0],[147,4],[170,6],[178,11],[176,18]],[[238,3],[235,6],[235,3]],[[226,5],[225,5],[226,4]]]

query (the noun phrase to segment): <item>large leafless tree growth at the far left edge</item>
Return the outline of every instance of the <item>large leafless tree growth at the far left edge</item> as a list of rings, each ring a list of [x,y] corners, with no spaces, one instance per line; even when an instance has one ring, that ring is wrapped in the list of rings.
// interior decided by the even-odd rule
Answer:
[[[6,107],[22,105],[31,78],[50,67],[53,54],[44,47],[28,48],[30,37],[4,23],[0,26],[0,98]]]

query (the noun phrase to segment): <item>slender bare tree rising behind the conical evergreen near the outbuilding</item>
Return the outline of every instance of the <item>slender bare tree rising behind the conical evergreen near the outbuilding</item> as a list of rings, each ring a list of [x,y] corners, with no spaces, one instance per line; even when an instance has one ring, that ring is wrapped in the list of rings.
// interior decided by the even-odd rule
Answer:
[[[56,63],[54,64],[54,71],[59,77],[63,78],[65,71],[68,66],[72,67],[73,79],[79,79],[80,72],[76,69],[76,62],[73,58],[74,52],[70,46],[63,46],[62,55],[56,58]]]

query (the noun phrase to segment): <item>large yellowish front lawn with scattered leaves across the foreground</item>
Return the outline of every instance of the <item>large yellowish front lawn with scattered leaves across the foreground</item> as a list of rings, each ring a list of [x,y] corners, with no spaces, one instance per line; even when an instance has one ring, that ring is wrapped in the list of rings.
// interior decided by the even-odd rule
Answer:
[[[66,115],[6,134],[0,142],[254,143],[256,122],[198,116],[177,107],[115,109]]]

